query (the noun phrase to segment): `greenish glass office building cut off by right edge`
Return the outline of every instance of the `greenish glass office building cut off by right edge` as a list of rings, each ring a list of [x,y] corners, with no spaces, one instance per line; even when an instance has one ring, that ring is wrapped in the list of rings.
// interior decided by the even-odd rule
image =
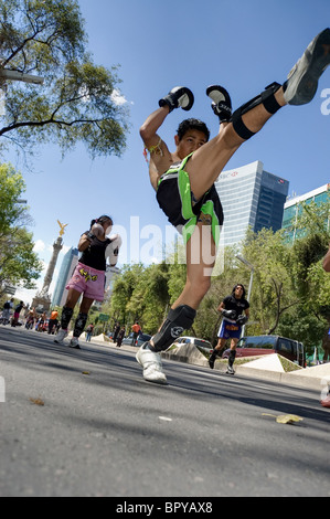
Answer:
[[[301,194],[299,197],[295,197],[292,199],[287,200],[284,206],[284,215],[283,215],[283,229],[286,231],[286,239],[289,242],[294,242],[297,237],[297,219],[299,214],[302,212],[302,204],[309,204],[310,202],[315,202],[317,205],[327,202],[330,195],[330,183],[326,183],[320,188],[317,188],[308,193]],[[329,218],[328,218],[328,229],[329,229]]]

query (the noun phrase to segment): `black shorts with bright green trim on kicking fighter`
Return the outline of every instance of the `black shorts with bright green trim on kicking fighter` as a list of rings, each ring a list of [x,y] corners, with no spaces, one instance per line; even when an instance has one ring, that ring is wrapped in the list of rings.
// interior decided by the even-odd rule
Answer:
[[[223,224],[221,201],[213,184],[201,200],[194,202],[189,174],[184,171],[190,157],[191,155],[185,157],[178,167],[169,169],[161,176],[157,201],[169,222],[183,235],[185,243],[191,237],[196,223],[203,221],[212,226],[213,240],[217,245]]]

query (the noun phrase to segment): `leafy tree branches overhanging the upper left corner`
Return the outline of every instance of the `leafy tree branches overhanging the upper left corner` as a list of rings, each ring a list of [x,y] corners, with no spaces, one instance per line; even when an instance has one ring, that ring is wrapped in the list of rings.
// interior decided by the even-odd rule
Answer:
[[[120,156],[127,110],[116,103],[117,68],[93,63],[76,0],[0,0],[0,60],[42,76],[43,86],[10,82],[0,137],[32,152],[54,141],[63,153],[83,141],[91,156]]]

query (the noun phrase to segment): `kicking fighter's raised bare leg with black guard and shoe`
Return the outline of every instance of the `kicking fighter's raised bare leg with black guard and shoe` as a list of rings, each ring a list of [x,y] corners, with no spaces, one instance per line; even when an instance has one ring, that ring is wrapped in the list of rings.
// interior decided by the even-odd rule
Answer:
[[[330,29],[326,29],[308,45],[283,85],[272,83],[262,94],[236,109],[230,119],[223,119],[219,135],[193,153],[187,171],[194,195],[203,195],[205,186],[209,189],[213,184],[242,144],[258,133],[283,106],[309,103],[316,94],[319,77],[329,64]],[[210,88],[211,93],[207,92]],[[206,94],[216,104],[216,92],[212,88],[209,87]],[[219,105],[222,103],[224,97]]]

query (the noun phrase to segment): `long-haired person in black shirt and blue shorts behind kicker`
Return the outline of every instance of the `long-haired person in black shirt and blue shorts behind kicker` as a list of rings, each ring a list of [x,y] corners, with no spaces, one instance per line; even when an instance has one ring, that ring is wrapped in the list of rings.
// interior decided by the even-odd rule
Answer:
[[[217,310],[221,311],[223,320],[217,333],[219,341],[209,359],[209,364],[211,369],[214,368],[216,357],[225,346],[226,340],[231,339],[231,353],[226,372],[234,374],[233,364],[236,357],[236,346],[242,333],[242,326],[247,322],[249,317],[249,304],[245,299],[244,286],[242,284],[235,285],[232,294],[223,299]]]

